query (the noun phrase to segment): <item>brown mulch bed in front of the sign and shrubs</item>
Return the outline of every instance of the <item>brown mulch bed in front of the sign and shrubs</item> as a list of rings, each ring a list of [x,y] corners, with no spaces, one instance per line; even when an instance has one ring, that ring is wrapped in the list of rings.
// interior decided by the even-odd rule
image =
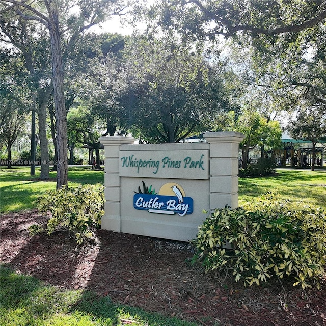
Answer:
[[[45,221],[36,210],[0,216],[1,262],[61,288],[198,325],[326,325],[326,280],[319,290],[278,282],[244,288],[189,264],[185,243],[104,230],[94,246],[77,246],[63,232],[30,237],[28,227]]]

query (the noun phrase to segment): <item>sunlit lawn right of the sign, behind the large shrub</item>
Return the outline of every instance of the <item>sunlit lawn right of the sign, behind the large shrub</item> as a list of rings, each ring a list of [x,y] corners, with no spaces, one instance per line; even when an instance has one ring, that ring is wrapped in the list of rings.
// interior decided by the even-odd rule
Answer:
[[[252,201],[267,192],[279,199],[326,208],[326,171],[277,170],[276,176],[239,178],[239,200]]]

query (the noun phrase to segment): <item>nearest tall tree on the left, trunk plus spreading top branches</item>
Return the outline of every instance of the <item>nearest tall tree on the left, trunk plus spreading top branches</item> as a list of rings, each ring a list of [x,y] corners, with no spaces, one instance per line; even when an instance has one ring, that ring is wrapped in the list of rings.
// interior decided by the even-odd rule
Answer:
[[[57,124],[57,188],[66,185],[68,182],[67,117],[62,58],[63,37],[69,35],[69,41],[65,43],[65,46],[69,47],[80,33],[104,20],[107,15],[119,13],[123,9],[124,3],[122,1],[116,3],[106,0],[93,0],[91,2],[80,0],[59,3],[52,0],[42,0],[36,4],[34,1],[26,0],[0,0],[1,15],[6,14],[11,19],[17,19],[18,15],[24,20],[37,21],[46,26],[49,31],[53,98]]]

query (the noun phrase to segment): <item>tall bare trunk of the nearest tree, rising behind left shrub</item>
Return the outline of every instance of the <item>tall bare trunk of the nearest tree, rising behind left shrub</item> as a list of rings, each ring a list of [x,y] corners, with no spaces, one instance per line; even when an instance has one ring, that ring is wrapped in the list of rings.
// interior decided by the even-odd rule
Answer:
[[[64,98],[64,73],[60,44],[57,2],[47,2],[49,32],[52,52],[53,95],[57,123],[57,189],[68,183],[67,116]]]

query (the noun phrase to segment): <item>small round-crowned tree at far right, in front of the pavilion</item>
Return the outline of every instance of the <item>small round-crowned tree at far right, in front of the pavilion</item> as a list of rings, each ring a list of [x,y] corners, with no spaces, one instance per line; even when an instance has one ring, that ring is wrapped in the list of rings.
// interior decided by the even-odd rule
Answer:
[[[289,123],[289,132],[294,139],[309,140],[312,143],[312,164],[314,170],[316,161],[316,144],[326,134],[326,115],[321,114],[313,106],[303,106],[297,116]]]

